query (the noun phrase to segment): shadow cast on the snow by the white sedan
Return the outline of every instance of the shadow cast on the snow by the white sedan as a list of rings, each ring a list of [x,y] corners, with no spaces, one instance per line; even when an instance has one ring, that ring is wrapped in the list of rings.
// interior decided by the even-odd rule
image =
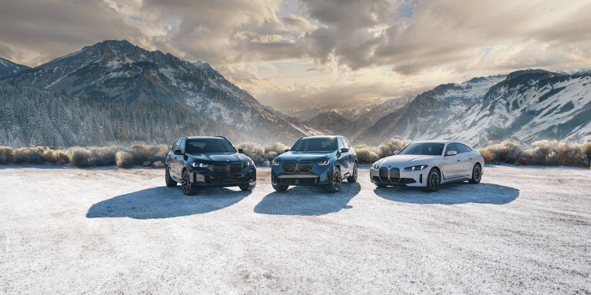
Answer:
[[[467,182],[446,183],[439,191],[426,192],[422,188],[408,186],[387,186],[375,188],[376,195],[395,202],[412,204],[495,204],[503,205],[514,201],[519,196],[519,189],[493,183]]]

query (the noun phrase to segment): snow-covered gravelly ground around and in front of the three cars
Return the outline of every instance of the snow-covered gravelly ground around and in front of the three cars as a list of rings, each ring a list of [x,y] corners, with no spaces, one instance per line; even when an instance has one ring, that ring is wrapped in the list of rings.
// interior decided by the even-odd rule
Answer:
[[[591,172],[183,196],[162,169],[0,166],[0,294],[590,294]]]

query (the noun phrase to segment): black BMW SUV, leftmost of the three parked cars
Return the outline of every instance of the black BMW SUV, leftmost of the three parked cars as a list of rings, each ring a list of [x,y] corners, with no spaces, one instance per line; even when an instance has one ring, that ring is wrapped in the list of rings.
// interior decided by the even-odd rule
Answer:
[[[208,187],[239,186],[251,191],[256,168],[243,153],[223,136],[180,137],[166,155],[166,186],[180,182],[185,195]]]

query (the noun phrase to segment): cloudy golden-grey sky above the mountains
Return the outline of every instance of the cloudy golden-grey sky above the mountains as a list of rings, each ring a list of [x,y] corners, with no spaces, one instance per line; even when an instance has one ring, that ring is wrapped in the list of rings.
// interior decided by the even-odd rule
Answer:
[[[277,109],[349,108],[524,68],[591,67],[591,1],[7,0],[0,57],[106,39],[206,61]]]

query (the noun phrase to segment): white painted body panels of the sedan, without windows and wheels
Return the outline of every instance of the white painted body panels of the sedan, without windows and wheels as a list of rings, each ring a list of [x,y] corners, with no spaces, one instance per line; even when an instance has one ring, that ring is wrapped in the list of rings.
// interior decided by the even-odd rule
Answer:
[[[391,168],[398,168],[400,169],[400,180],[401,182],[398,183],[385,183],[387,185],[406,185],[406,186],[420,186],[426,187],[427,186],[427,175],[429,171],[433,168],[437,168],[440,170],[441,173],[441,184],[447,182],[456,182],[456,181],[467,181],[472,178],[472,169],[476,163],[480,164],[481,173],[484,173],[484,158],[480,153],[472,149],[470,146],[466,145],[466,143],[458,142],[454,140],[424,140],[416,143],[443,143],[444,148],[441,155],[437,156],[425,156],[425,155],[394,155],[389,156],[383,159],[379,159],[374,163],[374,165],[378,166],[378,169],[372,168],[369,170],[369,175],[371,181],[374,183],[379,183],[381,181],[376,181],[375,176],[379,178],[379,168],[385,167],[388,169]],[[470,149],[470,151],[460,152],[457,151],[457,155],[448,155],[446,153],[451,148],[457,147],[452,144],[459,143],[460,145],[464,145]],[[450,148],[450,149],[448,149]],[[455,150],[455,149],[453,149]],[[428,165],[426,169],[419,170],[419,171],[405,171],[404,168],[417,166],[417,165]],[[389,175],[389,174],[388,174]],[[385,178],[382,177],[382,180]],[[410,182],[412,179],[414,182],[412,183],[404,183]],[[391,179],[388,179],[390,181]],[[395,180],[395,179],[394,179]],[[384,183],[384,182],[381,182]]]

